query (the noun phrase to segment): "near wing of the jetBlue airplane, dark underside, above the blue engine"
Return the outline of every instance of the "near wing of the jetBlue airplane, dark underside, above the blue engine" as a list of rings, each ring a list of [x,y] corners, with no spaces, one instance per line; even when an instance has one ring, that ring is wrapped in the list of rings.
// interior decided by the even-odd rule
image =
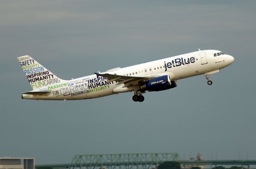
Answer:
[[[98,76],[106,77],[108,79],[108,83],[116,81],[116,85],[124,84],[123,87],[130,87],[132,85],[138,85],[140,83],[143,83],[145,81],[148,81],[150,79],[153,79],[155,77],[159,76],[142,76],[142,77],[134,77],[134,76],[123,76],[123,75],[115,75],[110,73],[95,73]]]

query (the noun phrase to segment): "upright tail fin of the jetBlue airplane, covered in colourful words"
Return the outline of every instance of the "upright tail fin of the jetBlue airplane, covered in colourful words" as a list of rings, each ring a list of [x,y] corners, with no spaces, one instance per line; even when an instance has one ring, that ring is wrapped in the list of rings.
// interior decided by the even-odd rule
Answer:
[[[65,81],[56,77],[30,56],[18,57],[18,61],[33,90]]]

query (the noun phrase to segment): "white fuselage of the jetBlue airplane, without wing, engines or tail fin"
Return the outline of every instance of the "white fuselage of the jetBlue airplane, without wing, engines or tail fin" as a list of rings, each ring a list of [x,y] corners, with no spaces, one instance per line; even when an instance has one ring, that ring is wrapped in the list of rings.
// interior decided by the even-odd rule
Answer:
[[[230,55],[214,56],[214,53],[220,53],[220,51],[196,51],[107,72],[128,77],[169,75],[171,81],[176,81],[178,79],[202,75],[222,69],[234,61],[234,58]],[[115,81],[108,83],[108,80],[104,77],[89,75],[33,90],[34,92],[51,90],[51,92],[47,94],[23,94],[22,97],[36,100],[80,100],[98,98],[116,94],[117,92],[113,92],[113,90],[120,86],[116,84]],[[121,86],[122,85],[124,84],[121,84]],[[123,91],[122,88],[120,89],[120,92],[133,91],[133,88],[126,88],[123,89]]]

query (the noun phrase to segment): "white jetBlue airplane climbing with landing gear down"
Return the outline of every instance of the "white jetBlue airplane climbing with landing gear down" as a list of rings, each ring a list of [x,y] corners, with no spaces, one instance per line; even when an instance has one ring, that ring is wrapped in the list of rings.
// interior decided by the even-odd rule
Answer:
[[[134,92],[132,100],[143,102],[146,91],[162,91],[177,86],[180,79],[203,75],[212,85],[210,75],[234,62],[234,57],[218,50],[200,50],[142,63],[114,68],[77,79],[63,80],[26,55],[18,57],[32,91],[22,99],[82,100],[123,92]]]

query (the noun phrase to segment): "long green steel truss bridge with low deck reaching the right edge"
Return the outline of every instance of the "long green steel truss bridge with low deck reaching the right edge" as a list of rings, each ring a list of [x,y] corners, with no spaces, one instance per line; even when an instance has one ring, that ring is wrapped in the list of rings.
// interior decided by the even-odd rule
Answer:
[[[256,165],[256,160],[181,160],[178,153],[138,153],[138,154],[96,154],[75,155],[70,164],[36,165],[54,169],[151,169],[164,161],[178,161],[183,166],[191,165]]]

